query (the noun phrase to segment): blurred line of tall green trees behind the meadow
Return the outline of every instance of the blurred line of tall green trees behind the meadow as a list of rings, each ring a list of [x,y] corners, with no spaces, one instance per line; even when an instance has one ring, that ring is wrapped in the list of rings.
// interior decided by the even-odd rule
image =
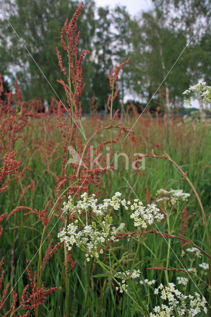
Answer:
[[[152,9],[136,17],[125,6],[97,8],[94,0],[84,2],[78,19],[79,47],[81,52],[91,51],[83,62],[84,112],[89,111],[93,94],[98,110],[106,109],[107,74],[128,57],[114,107],[130,94],[142,106],[150,102],[152,108],[176,108],[190,85],[199,80],[210,84],[209,1],[153,0]],[[62,74],[55,47],[62,52],[60,31],[78,4],[75,0],[0,0],[0,72],[9,78],[10,86],[18,76],[26,100],[39,96],[50,101],[56,97],[55,91],[65,103],[63,89],[56,81]],[[67,66],[67,57],[62,58]]]

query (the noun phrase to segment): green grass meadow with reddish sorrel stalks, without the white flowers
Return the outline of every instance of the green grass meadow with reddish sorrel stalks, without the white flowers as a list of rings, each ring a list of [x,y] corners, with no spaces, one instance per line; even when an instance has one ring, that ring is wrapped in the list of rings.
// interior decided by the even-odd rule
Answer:
[[[66,22],[63,36],[67,34],[68,38],[68,30],[74,29],[75,22],[74,17],[70,24]],[[76,33],[72,38],[77,42]],[[77,52],[71,55],[74,46],[69,42],[64,46],[69,71],[64,71],[61,59],[59,66],[67,76],[67,84],[61,84],[72,116],[67,115],[61,102],[55,101],[51,113],[38,113],[39,99],[25,103],[17,85],[15,93],[7,94],[1,102],[0,316],[182,316],[177,310],[181,303],[176,303],[169,315],[153,315],[153,308],[164,303],[154,290],[160,283],[174,283],[186,296],[197,292],[209,302],[210,241],[209,224],[205,222],[210,219],[210,119],[167,118],[149,111],[137,122],[139,114],[135,111],[127,112],[123,120],[112,111],[103,119],[94,113],[81,119],[81,77],[71,77],[82,74],[81,60],[74,61],[72,56]],[[60,57],[59,52],[57,55]],[[109,77],[111,110],[114,84],[122,67],[115,68]],[[69,161],[69,146],[88,167],[93,146],[94,158],[102,154],[101,167],[94,163],[93,169],[86,169]],[[124,156],[119,156],[118,166],[111,169],[116,154]],[[140,170],[132,165],[138,154],[142,154]],[[163,159],[158,158],[163,154]],[[156,202],[163,196],[157,195],[160,189],[181,189],[190,196],[176,204],[172,200]],[[96,194],[100,203],[120,192],[122,200],[138,199],[144,206],[156,204],[163,219],[143,229],[134,226],[130,217],[133,210],[125,210],[121,204],[117,208],[110,206],[104,220],[115,228],[120,226],[116,231],[119,241],[114,243],[108,237],[99,245],[99,257],[90,256],[86,261],[88,251],[83,244],[68,250],[67,242],[58,237],[58,232],[76,218],[93,228],[102,225],[103,218],[92,209],[89,213],[82,209],[81,214],[71,212],[71,208],[63,212],[68,196],[76,205],[84,192],[88,196]],[[102,226],[106,228],[106,224]],[[186,251],[193,247],[197,250]],[[126,290],[121,288],[122,275],[116,273],[120,271],[129,272]],[[131,277],[134,272],[136,278]],[[178,277],[188,280],[180,283]],[[140,283],[145,279],[155,283]],[[184,309],[183,313],[207,315],[203,307],[195,313]]]

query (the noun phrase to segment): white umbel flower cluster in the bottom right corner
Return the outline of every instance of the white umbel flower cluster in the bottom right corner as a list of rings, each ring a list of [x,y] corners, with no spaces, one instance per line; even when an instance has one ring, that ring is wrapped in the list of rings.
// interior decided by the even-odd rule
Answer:
[[[195,296],[186,296],[178,291],[173,283],[169,283],[165,287],[160,284],[155,289],[155,294],[160,295],[162,304],[161,306],[154,307],[154,313],[150,313],[150,317],[194,317],[201,313],[201,311],[204,311],[205,314],[208,312],[206,308],[207,302],[204,297],[201,298],[198,293],[195,293]],[[164,301],[168,303],[165,305]]]

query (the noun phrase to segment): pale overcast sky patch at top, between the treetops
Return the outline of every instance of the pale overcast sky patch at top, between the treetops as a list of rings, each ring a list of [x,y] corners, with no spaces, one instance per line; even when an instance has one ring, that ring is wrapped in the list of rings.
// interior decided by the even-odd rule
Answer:
[[[86,0],[84,2],[86,3]],[[114,7],[116,4],[125,5],[131,15],[136,15],[141,10],[152,8],[151,0],[95,0],[95,2],[97,6],[108,5]]]

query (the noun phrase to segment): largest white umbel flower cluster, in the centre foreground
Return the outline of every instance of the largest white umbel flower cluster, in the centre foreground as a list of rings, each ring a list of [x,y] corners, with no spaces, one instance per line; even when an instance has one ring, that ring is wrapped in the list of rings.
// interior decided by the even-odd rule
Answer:
[[[159,213],[156,205],[147,205],[144,207],[142,202],[135,199],[134,202],[121,199],[121,193],[116,192],[111,199],[104,199],[99,203],[95,194],[88,196],[87,193],[81,195],[81,200],[76,204],[69,196],[68,202],[63,203],[63,212],[72,215],[75,220],[69,223],[67,228],[63,228],[58,237],[65,241],[68,250],[71,250],[75,244],[85,252],[87,261],[91,258],[99,258],[109,241],[118,241],[116,232],[119,231],[112,225],[110,211],[118,211],[120,208],[133,211],[131,218],[134,219],[134,225],[146,228],[152,225],[155,220],[161,220],[163,214]],[[86,219],[83,221],[83,217]],[[89,220],[89,221],[88,221]],[[121,224],[121,228],[123,225]]]

